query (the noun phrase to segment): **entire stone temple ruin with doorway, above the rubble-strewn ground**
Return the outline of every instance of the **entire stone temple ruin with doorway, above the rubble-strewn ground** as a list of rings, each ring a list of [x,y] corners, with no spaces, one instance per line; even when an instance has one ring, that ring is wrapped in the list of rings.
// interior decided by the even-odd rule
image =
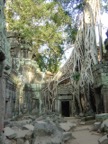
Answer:
[[[80,75],[77,71],[78,64],[75,66],[76,70],[72,72],[72,67],[74,67],[72,55],[55,76],[51,73],[42,73],[33,59],[30,43],[25,41],[20,33],[6,33],[3,2],[0,19],[2,21],[0,88],[3,101],[5,95],[5,104],[0,105],[5,107],[3,111],[5,119],[27,112],[42,113],[46,110],[57,111],[62,116],[68,117],[86,113],[90,109],[93,113],[108,112],[108,38],[105,41],[106,54],[103,54],[102,62],[98,61],[93,66],[93,84],[86,82],[83,89],[79,86],[79,90],[75,90]],[[85,94],[86,92],[88,94]],[[75,95],[78,96],[75,97]]]

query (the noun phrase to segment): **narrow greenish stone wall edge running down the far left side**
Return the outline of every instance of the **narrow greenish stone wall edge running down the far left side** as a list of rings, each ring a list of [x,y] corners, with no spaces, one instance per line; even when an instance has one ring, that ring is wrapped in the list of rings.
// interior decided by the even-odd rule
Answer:
[[[3,143],[2,132],[4,128],[5,115],[5,74],[9,73],[11,68],[9,44],[6,36],[4,0],[0,1],[0,144]]]

